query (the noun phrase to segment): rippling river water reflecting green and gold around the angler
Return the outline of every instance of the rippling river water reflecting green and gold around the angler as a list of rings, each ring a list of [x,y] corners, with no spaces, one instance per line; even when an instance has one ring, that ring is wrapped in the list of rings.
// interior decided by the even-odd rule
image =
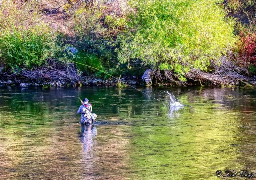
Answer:
[[[256,89],[0,89],[0,179],[222,179],[256,173]],[[191,107],[168,109],[169,91]],[[233,179],[233,178],[232,178]],[[239,178],[237,178],[239,179]],[[240,178],[244,179],[244,178]]]

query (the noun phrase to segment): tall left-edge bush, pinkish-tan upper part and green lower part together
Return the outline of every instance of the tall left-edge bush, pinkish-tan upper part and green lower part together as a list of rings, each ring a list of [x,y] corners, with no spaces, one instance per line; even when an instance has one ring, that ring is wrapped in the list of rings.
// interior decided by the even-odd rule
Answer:
[[[53,34],[33,1],[3,0],[0,19],[0,57],[12,69],[41,65],[51,55]]]

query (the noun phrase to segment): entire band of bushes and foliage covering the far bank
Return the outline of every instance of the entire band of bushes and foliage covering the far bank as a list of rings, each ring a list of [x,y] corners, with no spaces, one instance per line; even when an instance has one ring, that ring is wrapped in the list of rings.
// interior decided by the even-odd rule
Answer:
[[[216,72],[223,57],[255,69],[252,0],[48,2],[0,1],[1,64],[17,72],[53,57],[116,76],[152,68],[159,79],[165,74],[175,82],[201,81],[195,72]],[[103,77],[76,65],[78,73]]]

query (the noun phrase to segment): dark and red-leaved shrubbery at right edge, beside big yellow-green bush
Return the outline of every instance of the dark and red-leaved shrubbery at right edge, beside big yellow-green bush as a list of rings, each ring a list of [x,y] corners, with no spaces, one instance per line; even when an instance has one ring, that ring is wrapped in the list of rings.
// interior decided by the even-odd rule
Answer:
[[[256,1],[229,0],[222,2],[227,16],[235,19],[235,34],[239,41],[231,59],[250,74],[255,74],[256,65]]]

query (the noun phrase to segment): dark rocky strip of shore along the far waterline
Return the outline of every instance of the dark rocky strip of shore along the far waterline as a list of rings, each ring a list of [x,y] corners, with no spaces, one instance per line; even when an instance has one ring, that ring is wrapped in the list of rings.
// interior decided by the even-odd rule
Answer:
[[[121,83],[129,84],[132,86],[141,85],[146,86],[145,81],[142,79],[141,76],[134,75],[134,76],[124,76],[120,78]],[[170,83],[168,81],[156,81],[155,78],[152,80],[152,86],[155,87],[170,87],[170,86],[177,86],[177,84]],[[38,86],[43,88],[50,88],[50,87],[69,87],[69,86],[118,86],[118,80],[114,78],[109,79],[102,79],[97,78],[95,76],[81,76],[79,80],[74,81],[67,81],[67,80],[43,80],[43,79],[27,79],[22,77],[17,77],[14,74],[1,74],[0,75],[0,87],[2,86],[11,86],[11,87],[20,87],[26,88],[29,86]],[[213,83],[201,83],[200,81],[193,81],[188,80],[187,86],[220,86],[218,84]],[[247,77],[245,80],[237,81],[232,83],[233,86],[256,86],[256,76]]]

